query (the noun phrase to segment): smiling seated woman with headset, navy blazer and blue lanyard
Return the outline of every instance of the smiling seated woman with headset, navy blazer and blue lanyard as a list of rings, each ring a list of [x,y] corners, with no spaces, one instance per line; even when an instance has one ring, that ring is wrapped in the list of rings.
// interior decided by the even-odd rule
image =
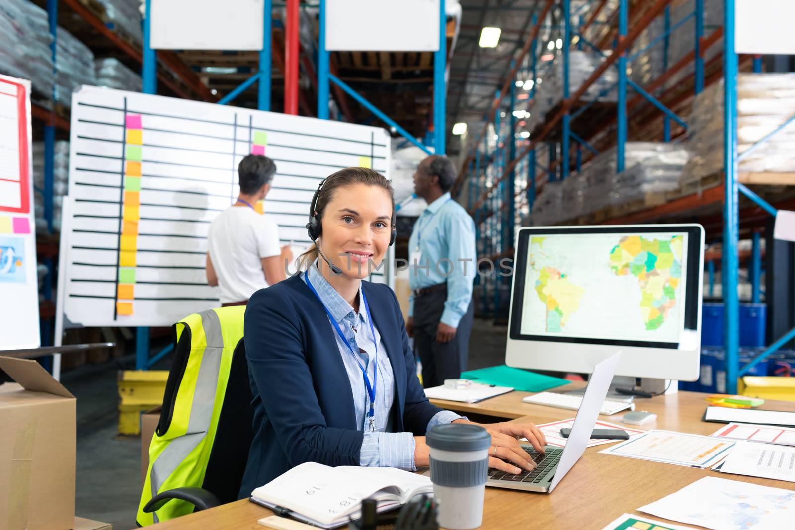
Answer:
[[[466,422],[430,404],[417,379],[397,298],[363,280],[394,243],[389,180],[366,168],[335,172],[312,197],[315,245],[302,272],[251,297],[245,344],[254,441],[240,497],[303,462],[328,466],[429,465],[425,431]],[[517,439],[543,451],[533,424],[488,424],[491,467],[534,467]]]

